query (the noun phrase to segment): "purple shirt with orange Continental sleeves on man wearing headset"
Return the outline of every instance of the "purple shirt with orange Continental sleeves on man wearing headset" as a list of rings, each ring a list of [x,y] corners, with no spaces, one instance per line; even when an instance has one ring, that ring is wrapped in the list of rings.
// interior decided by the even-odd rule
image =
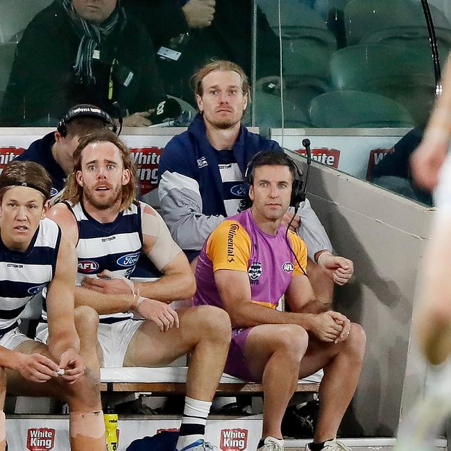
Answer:
[[[199,255],[194,305],[223,308],[214,282],[214,272],[227,269],[246,272],[252,302],[275,309],[291,278],[303,274],[293,253],[303,269],[307,267],[304,241],[289,231],[288,243],[285,232],[286,228],[282,225],[276,235],[263,232],[255,223],[250,209],[219,224],[205,241]]]

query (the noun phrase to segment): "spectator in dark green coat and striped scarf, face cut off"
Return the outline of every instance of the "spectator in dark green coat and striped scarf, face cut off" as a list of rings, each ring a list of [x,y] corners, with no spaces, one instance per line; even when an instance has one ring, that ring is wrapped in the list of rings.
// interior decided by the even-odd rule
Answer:
[[[144,27],[117,0],[55,0],[26,27],[12,65],[1,121],[53,125],[76,103],[93,103],[124,126],[148,126],[164,97]]]

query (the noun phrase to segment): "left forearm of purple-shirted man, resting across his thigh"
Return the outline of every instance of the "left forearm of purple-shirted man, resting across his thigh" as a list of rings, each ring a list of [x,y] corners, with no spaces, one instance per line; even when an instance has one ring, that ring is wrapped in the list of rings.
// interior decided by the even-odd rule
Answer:
[[[232,327],[253,327],[260,324],[297,324],[309,330],[309,319],[312,314],[288,313],[258,305],[255,303],[240,303],[239,307],[228,312]]]

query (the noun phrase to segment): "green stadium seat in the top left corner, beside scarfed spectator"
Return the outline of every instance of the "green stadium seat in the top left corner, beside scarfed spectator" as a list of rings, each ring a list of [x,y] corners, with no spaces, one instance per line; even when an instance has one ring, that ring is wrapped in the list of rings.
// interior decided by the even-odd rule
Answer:
[[[0,42],[14,40],[35,17],[37,12],[49,6],[52,0],[1,0]]]

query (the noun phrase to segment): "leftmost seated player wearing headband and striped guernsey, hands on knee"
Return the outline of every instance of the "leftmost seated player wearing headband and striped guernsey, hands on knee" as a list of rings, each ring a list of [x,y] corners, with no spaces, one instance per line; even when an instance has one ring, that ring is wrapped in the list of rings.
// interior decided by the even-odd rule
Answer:
[[[8,385],[10,393],[65,400],[71,450],[105,451],[94,351],[99,316],[89,307],[74,311],[76,253],[56,223],[44,218],[50,189],[48,174],[35,162],[10,162],[0,176],[0,450]],[[26,337],[17,323],[44,288],[49,346]],[[13,439],[10,449],[17,449]]]

